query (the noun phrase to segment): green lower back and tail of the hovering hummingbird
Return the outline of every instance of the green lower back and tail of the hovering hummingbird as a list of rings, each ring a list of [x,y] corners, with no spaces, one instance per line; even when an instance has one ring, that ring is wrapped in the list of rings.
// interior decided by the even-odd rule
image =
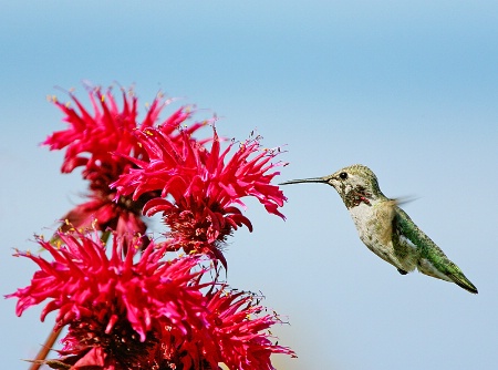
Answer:
[[[395,243],[407,243],[417,249],[417,268],[422,274],[453,281],[459,287],[477,294],[477,288],[467,279],[460,268],[449,260],[445,253],[397,206],[393,218],[393,245]]]

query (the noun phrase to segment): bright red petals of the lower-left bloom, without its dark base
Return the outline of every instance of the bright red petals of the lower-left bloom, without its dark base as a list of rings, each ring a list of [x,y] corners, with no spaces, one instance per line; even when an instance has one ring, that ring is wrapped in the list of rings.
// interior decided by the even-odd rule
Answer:
[[[40,246],[52,255],[53,263],[30,253],[15,255],[30,258],[41,268],[30,286],[10,295],[19,298],[18,316],[30,306],[51,299],[41,314],[41,320],[58,310],[55,320],[61,327],[92,316],[98,309],[112,311],[110,306],[115,305],[125,311],[142,341],[153,328],[154,320],[165,311],[178,326],[184,321],[198,321],[197,314],[201,310],[197,304],[201,297],[198,290],[204,286],[190,286],[201,274],[190,273],[198,265],[198,258],[185,257],[165,263],[162,258],[167,246],[155,248],[152,244],[134,263],[139,243],[124,256],[121,238],[114,237],[112,254],[107,257],[105,246],[96,235],[59,233],[59,237],[63,243],[61,247],[38,239]],[[112,327],[115,318],[110,317],[108,320]],[[187,331],[187,328],[181,328]]]

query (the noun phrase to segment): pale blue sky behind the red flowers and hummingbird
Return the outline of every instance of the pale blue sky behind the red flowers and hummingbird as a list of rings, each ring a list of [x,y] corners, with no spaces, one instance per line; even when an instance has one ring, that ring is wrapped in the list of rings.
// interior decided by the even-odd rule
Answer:
[[[398,275],[331,187],[286,187],[286,222],[249,202],[228,281],[288,317],[276,332],[299,359],[278,369],[498,368],[497,40],[495,1],[2,2],[2,294],[34,268],[12,248],[35,249],[85,189],[38,146],[63,127],[45,96],[117,81],[143,107],[160,90],[222,117],[221,135],[286,144],[278,179],[369,165],[387,196],[417,197],[405,210],[479,288]],[[0,304],[10,369],[53,320],[14,304]]]

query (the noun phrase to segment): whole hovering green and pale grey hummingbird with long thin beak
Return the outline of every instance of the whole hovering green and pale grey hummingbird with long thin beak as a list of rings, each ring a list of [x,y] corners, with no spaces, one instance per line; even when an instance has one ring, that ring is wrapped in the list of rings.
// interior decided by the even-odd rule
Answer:
[[[366,166],[355,164],[324,177],[292,179],[279,185],[299,183],[329,184],[338,191],[353,218],[360,239],[378,257],[406,275],[417,268],[422,274],[453,281],[477,294],[477,288],[378,187],[377,177]]]

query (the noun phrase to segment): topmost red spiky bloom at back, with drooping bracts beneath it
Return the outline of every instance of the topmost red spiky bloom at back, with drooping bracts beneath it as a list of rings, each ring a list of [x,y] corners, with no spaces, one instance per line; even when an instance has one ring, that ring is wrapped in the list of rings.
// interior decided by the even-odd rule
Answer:
[[[146,225],[142,219],[142,208],[157,194],[154,191],[143,193],[133,201],[127,196],[116,198],[116,192],[110,188],[110,184],[134,167],[126,156],[147,160],[147,152],[137,142],[134,131],[156,125],[159,113],[170,101],[158,95],[151,104],[145,119],[138,123],[137,97],[132,91],[122,91],[121,110],[111,89],[104,93],[100,88],[95,88],[89,95],[93,115],[72,93],[70,96],[76,109],[53,99],[54,104],[65,114],[64,121],[69,127],[53,133],[43,142],[50,150],[66,150],[62,173],[83,167],[83,177],[90,182],[89,201],[77,205],[63,217],[65,224],[62,230],[69,230],[70,227],[96,227],[103,232],[111,228],[121,235],[144,234]],[[189,117],[189,110],[180,107],[162,122],[160,126],[166,133],[170,133]],[[196,123],[187,131],[194,132],[201,125]]]

